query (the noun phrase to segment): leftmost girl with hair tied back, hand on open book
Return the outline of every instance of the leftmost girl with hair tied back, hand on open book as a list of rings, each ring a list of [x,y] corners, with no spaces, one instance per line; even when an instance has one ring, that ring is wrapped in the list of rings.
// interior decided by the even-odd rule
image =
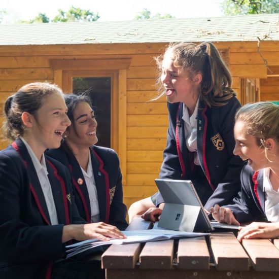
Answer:
[[[0,152],[0,277],[104,277],[99,262],[64,259],[67,241],[124,238],[114,226],[86,224],[72,196],[71,176],[44,155],[71,124],[62,91],[23,86],[5,103],[4,131],[14,142]]]

